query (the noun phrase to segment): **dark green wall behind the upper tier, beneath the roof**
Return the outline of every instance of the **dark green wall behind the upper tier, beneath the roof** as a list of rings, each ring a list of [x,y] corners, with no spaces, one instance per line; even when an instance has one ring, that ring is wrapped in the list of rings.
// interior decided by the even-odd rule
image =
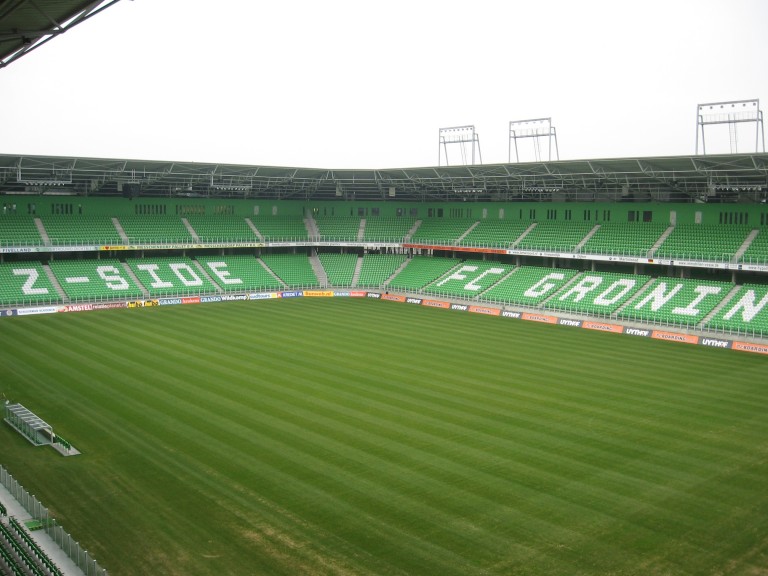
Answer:
[[[762,204],[672,204],[607,202],[402,202],[220,200],[187,198],[84,198],[72,196],[3,196],[3,213],[16,204],[17,214],[47,215],[216,215],[318,217],[467,218],[471,220],[537,220],[571,222],[644,222],[661,224],[768,225]]]

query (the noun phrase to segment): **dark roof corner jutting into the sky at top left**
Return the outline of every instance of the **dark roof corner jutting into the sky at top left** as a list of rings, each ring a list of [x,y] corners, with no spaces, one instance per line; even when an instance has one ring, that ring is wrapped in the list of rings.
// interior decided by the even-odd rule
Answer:
[[[0,68],[120,0],[0,0]]]

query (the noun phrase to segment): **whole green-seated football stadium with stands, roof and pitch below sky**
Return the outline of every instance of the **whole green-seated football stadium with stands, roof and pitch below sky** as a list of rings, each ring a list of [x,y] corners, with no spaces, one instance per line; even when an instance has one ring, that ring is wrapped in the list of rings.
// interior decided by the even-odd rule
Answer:
[[[764,574],[766,200],[0,155],[0,573]]]

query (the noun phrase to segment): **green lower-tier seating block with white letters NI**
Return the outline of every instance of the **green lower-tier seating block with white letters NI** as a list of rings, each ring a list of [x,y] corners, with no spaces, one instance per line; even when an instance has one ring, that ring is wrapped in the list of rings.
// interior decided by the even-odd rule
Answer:
[[[732,284],[708,280],[657,278],[619,318],[668,326],[694,327],[731,291]]]

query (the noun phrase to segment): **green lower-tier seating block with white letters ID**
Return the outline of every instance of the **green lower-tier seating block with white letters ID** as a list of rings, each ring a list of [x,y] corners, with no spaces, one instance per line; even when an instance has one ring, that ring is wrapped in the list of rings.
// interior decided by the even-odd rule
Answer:
[[[197,265],[184,256],[130,258],[126,262],[153,298],[212,294],[217,291]]]

